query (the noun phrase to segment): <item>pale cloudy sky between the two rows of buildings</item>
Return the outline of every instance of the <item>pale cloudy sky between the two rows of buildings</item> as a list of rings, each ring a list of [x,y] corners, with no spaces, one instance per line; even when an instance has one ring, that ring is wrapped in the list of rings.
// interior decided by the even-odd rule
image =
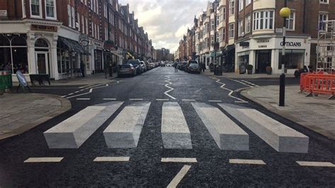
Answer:
[[[178,42],[192,28],[193,19],[206,10],[208,0],[119,0],[129,4],[139,25],[148,32],[155,49],[165,47],[174,53]]]

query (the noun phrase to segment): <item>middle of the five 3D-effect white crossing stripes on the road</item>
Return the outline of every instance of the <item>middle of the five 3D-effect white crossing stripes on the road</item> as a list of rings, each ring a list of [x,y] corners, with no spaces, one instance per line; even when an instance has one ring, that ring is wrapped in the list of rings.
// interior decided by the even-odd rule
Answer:
[[[163,103],[161,133],[164,148],[192,149],[189,127],[178,102]]]

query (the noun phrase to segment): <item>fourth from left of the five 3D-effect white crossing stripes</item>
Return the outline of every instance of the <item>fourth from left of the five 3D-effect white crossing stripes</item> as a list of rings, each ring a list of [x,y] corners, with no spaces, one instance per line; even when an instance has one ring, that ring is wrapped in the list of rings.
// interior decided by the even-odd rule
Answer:
[[[221,110],[201,102],[192,105],[221,150],[249,150],[249,135]]]

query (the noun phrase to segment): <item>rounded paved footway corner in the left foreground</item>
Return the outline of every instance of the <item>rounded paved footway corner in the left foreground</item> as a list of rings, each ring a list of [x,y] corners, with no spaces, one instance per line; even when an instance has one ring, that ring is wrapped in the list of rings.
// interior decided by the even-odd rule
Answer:
[[[23,134],[71,109],[71,102],[57,95],[5,93],[0,95],[0,140]]]

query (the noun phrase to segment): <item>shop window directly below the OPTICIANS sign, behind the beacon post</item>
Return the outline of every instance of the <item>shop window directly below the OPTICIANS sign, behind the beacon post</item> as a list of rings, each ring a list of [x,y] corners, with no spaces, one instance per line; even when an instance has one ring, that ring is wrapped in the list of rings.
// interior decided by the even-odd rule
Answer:
[[[279,51],[278,69],[281,69],[282,50]],[[287,69],[302,69],[305,64],[305,50],[303,49],[286,49],[285,51],[285,67]]]

